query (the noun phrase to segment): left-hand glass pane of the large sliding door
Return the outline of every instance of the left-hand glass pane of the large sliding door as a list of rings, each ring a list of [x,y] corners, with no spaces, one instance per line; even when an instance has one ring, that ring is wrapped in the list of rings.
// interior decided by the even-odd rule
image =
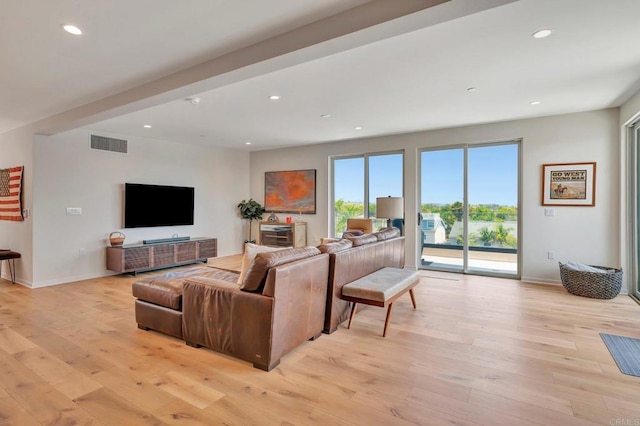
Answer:
[[[424,151],[421,164],[421,264],[462,270],[464,150]]]

